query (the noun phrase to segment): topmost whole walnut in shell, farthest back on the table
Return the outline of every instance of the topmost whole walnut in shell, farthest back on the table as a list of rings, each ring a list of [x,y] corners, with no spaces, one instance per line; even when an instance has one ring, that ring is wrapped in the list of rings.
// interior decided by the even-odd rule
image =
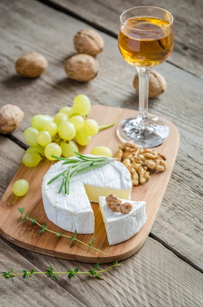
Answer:
[[[103,37],[93,29],[82,29],[74,36],[74,46],[78,53],[96,56],[104,48]]]

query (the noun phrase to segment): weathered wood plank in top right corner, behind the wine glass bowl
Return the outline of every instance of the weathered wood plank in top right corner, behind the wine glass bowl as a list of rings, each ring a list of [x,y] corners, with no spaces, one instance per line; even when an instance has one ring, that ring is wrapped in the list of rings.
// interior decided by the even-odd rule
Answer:
[[[154,2],[150,0],[136,2],[131,0],[114,0],[110,2],[108,0],[40,1],[48,5],[56,4],[64,10],[66,9],[67,12],[73,12],[77,16],[85,18],[115,35],[118,34],[119,17],[122,12],[135,6],[154,5]],[[202,1],[187,0],[183,2],[182,0],[171,0],[163,2],[162,0],[157,0],[155,6],[171,12],[174,17],[175,44],[168,61],[203,78],[203,48],[200,43],[203,31]]]

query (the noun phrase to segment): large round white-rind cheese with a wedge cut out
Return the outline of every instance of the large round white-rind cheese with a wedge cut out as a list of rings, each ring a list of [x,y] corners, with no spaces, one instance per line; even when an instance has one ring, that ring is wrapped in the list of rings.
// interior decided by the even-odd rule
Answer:
[[[112,193],[119,198],[130,200],[130,173],[116,160],[105,166],[76,174],[71,178],[69,195],[65,194],[64,188],[58,194],[62,177],[50,185],[48,182],[67,169],[67,165],[62,163],[63,161],[59,161],[53,164],[43,177],[42,183],[44,210],[49,220],[60,228],[70,232],[76,230],[77,233],[94,233],[94,213],[89,201],[98,203],[99,195],[107,196]]]

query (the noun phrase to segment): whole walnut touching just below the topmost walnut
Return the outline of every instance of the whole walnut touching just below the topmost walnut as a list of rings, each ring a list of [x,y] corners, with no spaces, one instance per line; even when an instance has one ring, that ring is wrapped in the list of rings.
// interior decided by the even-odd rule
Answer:
[[[88,54],[76,54],[65,63],[65,72],[73,80],[85,82],[92,80],[98,73],[98,61]]]

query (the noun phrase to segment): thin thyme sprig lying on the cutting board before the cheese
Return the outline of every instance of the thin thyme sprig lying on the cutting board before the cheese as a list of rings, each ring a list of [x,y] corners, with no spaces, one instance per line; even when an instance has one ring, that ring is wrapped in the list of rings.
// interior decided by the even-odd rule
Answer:
[[[24,216],[24,218],[22,218],[22,220],[20,220],[20,222],[25,222],[26,220],[29,220],[29,221],[32,222],[32,225],[35,225],[35,224],[38,225],[38,226],[41,228],[41,229],[39,230],[39,233],[42,233],[42,232],[44,232],[44,231],[49,231],[49,232],[51,232],[51,233],[56,234],[57,237],[62,237],[62,236],[63,236],[63,237],[66,237],[66,238],[69,238],[70,240],[72,240],[71,247],[74,245],[74,242],[77,241],[77,242],[79,242],[79,243],[85,245],[85,246],[88,247],[88,248],[94,249],[94,250],[96,250],[96,251],[98,251],[98,252],[100,252],[100,253],[102,253],[102,254],[108,255],[107,253],[100,251],[98,248],[93,247],[93,244],[94,244],[93,238],[91,238],[91,243],[86,244],[86,243],[84,243],[84,242],[82,242],[82,241],[80,241],[80,240],[78,240],[78,239],[76,238],[76,235],[77,235],[77,231],[76,231],[76,230],[75,230],[75,233],[74,233],[74,235],[73,235],[72,237],[69,236],[69,235],[63,234],[63,233],[61,233],[60,231],[55,232],[55,231],[53,231],[53,230],[48,229],[48,228],[47,228],[47,225],[41,225],[41,224],[39,224],[39,223],[36,221],[36,218],[31,218],[31,217],[29,217],[29,212],[25,213],[25,209],[24,209],[24,208],[18,208],[18,211]]]

